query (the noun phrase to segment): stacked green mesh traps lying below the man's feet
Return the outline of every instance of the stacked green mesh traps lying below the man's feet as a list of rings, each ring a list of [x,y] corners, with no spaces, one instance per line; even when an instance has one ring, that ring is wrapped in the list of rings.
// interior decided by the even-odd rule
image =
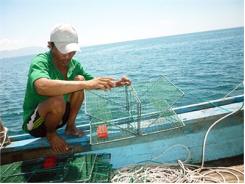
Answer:
[[[1,183],[20,182],[109,182],[112,165],[109,154],[72,155],[57,158],[44,167],[44,158],[0,166]]]

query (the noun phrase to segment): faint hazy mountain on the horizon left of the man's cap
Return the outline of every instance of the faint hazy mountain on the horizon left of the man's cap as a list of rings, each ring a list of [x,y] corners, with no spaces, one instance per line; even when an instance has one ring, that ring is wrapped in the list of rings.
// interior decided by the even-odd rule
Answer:
[[[25,47],[25,48],[15,49],[15,50],[3,50],[0,51],[0,58],[34,55],[40,52],[45,52],[47,50],[48,48],[43,48],[43,47]]]

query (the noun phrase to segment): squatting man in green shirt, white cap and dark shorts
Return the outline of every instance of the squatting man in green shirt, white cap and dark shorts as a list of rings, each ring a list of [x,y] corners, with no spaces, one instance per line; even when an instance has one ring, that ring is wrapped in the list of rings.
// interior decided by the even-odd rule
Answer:
[[[66,124],[67,135],[82,136],[75,120],[84,100],[84,89],[107,90],[130,85],[122,77],[94,78],[73,59],[79,51],[76,30],[68,24],[54,28],[48,42],[50,51],[37,55],[30,66],[23,105],[23,129],[34,137],[47,137],[52,149],[65,152],[68,144],[56,130]]]

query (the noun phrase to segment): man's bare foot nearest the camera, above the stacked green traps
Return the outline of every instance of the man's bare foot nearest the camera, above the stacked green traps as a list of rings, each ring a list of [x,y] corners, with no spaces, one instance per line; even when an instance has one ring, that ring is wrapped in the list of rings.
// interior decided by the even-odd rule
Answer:
[[[47,139],[55,152],[67,152],[69,150],[68,144],[56,133],[47,133]]]

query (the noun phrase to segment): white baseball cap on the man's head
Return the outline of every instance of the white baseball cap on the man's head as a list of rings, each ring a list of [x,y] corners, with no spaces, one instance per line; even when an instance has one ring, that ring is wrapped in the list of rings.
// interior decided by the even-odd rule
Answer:
[[[80,50],[77,32],[75,28],[69,24],[56,26],[51,32],[50,42],[54,42],[56,48],[62,54]]]

